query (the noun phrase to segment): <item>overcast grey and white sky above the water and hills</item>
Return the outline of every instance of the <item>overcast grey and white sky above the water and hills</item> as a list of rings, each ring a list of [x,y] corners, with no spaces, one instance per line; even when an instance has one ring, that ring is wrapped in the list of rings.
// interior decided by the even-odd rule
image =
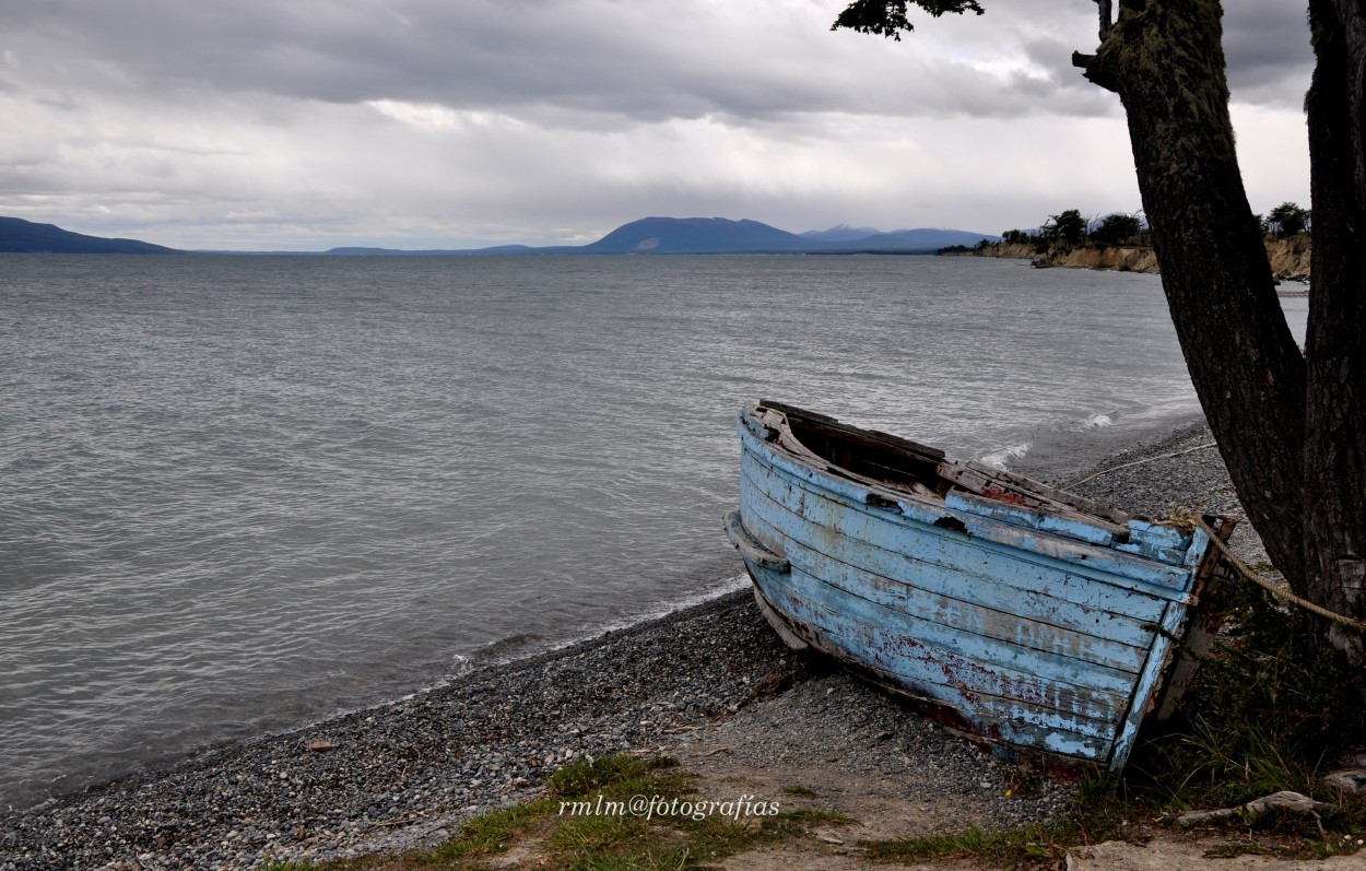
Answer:
[[[0,0],[0,214],[187,248],[1000,232],[1139,209],[1091,0],[902,42],[840,0]],[[1228,0],[1249,197],[1309,201],[1303,3]]]

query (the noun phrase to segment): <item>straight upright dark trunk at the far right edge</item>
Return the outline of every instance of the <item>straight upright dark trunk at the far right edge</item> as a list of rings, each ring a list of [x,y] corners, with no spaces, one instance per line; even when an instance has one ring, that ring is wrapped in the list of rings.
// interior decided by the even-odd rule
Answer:
[[[1366,0],[1310,0],[1314,250],[1305,343],[1307,598],[1366,613]],[[1324,625],[1362,658],[1359,635]]]

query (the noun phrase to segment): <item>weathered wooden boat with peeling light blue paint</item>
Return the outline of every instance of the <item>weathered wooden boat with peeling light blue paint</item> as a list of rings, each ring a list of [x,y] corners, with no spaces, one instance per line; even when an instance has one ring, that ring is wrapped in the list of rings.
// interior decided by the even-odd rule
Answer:
[[[779,403],[736,429],[727,534],[790,646],[859,666],[1004,755],[1115,771],[1145,714],[1188,683],[1180,640],[1218,569],[1203,531]]]

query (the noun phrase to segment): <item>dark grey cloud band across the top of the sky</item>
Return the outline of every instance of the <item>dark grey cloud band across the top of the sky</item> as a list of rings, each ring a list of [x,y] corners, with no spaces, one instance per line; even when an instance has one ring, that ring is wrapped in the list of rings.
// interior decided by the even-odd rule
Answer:
[[[301,100],[406,100],[451,108],[512,106],[639,120],[852,111],[1094,115],[1100,101],[1070,67],[1094,42],[1089,3],[1016,0],[984,18],[926,22],[899,45],[831,34],[837,10],[723,16],[705,4],[598,0],[63,0],[10,4],[0,23],[19,55],[67,87],[262,93]],[[1284,94],[1303,67],[1303,16],[1279,0],[1229,14],[1235,85]],[[1299,31],[1296,34],[1296,30]],[[1052,34],[1064,33],[1057,37]],[[944,46],[940,41],[948,40]],[[10,46],[15,41],[11,37]],[[945,57],[1023,53],[1040,76],[1000,82]],[[1029,96],[1034,101],[1022,101]],[[1070,106],[1074,101],[1076,105]]]

